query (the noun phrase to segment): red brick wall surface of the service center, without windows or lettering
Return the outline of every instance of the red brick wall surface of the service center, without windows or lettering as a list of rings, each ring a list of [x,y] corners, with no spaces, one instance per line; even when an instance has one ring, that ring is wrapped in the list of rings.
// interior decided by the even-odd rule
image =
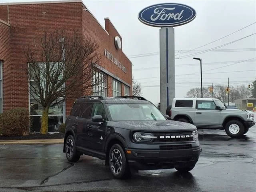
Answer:
[[[4,76],[10,76],[9,83],[7,78],[4,79],[4,97],[11,98],[8,104],[7,100],[4,100],[5,108],[28,108],[28,82],[24,73],[28,63],[24,57],[23,48],[25,45],[33,43],[34,39],[42,36],[45,29],[55,30],[56,28],[64,28],[77,30],[84,37],[91,38],[99,45],[98,53],[102,58],[100,65],[126,83],[132,84],[131,62],[123,54],[122,49],[116,50],[114,46],[114,37],[120,35],[110,20],[105,20],[106,32],[90,12],[83,10],[84,8],[82,2],[10,4],[8,6],[0,6],[0,19],[10,23],[10,26],[5,25],[4,27],[2,27],[1,23],[1,33],[4,34],[4,38],[1,35],[1,42],[3,40],[6,41],[6,44],[10,45],[8,46],[10,47],[9,50],[6,49],[5,51],[6,56],[1,58],[9,63],[11,69],[8,72],[4,68]],[[8,28],[10,33],[7,32]],[[124,73],[104,56],[104,48],[111,52],[126,67],[127,73]],[[124,92],[122,91],[123,94]],[[112,96],[111,76],[108,76],[108,96]],[[73,102],[74,100],[71,99],[66,100],[67,115],[70,114]]]

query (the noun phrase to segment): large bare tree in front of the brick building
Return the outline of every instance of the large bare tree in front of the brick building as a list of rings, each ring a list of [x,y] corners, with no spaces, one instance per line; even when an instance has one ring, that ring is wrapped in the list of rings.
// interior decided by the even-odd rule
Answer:
[[[100,57],[98,46],[78,32],[44,31],[33,44],[24,47],[29,64],[24,68],[30,95],[42,105],[40,133],[48,133],[49,107],[92,92],[92,80]]]

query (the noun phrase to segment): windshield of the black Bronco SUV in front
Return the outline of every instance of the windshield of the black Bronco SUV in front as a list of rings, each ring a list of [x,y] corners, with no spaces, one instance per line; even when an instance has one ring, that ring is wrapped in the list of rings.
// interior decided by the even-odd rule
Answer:
[[[132,120],[166,120],[153,104],[108,104],[114,121]]]

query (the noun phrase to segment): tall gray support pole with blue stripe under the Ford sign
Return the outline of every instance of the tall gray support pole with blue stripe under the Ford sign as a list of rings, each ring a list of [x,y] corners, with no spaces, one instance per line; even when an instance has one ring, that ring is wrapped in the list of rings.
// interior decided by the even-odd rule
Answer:
[[[160,28],[160,108],[166,114],[175,97],[174,28]]]

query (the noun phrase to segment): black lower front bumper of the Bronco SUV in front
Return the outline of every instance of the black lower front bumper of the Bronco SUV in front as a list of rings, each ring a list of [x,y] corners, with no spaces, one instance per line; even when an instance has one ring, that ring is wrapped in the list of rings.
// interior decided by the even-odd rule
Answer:
[[[202,148],[200,146],[179,150],[140,150],[129,149],[129,166],[136,170],[168,169],[176,166],[196,164]]]

